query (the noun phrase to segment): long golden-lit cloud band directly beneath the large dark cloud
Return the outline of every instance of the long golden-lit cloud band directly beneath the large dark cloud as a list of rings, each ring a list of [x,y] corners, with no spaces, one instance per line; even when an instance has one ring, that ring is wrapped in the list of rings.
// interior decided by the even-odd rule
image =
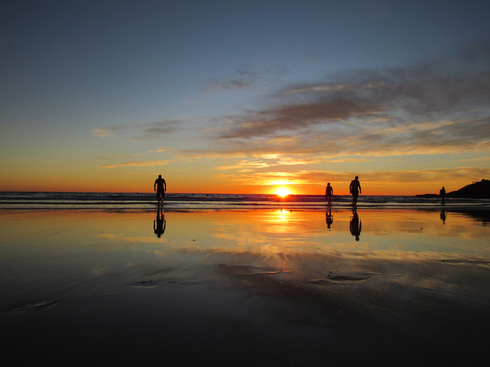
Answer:
[[[189,159],[268,161],[273,164],[372,161],[374,157],[453,154],[479,151],[490,153],[490,118],[453,121],[358,122],[355,126],[336,123],[331,129],[306,129],[294,136],[270,135],[249,139],[212,140],[209,149],[178,152]],[[225,165],[229,165],[227,163]]]

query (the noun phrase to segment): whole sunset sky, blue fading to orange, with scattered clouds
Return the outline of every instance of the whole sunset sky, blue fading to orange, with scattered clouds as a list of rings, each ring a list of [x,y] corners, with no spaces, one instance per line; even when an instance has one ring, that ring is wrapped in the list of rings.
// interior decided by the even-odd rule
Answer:
[[[0,3],[0,191],[490,178],[490,1]]]

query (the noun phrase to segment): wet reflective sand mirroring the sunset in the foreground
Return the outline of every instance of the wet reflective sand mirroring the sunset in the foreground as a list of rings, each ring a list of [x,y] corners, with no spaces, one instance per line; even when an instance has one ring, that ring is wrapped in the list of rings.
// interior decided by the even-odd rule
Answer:
[[[35,363],[483,364],[473,214],[0,210],[1,343]]]

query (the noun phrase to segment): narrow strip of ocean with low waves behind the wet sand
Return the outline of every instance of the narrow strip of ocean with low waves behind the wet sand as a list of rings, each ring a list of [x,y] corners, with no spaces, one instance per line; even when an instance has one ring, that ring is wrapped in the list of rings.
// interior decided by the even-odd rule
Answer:
[[[350,207],[350,195],[334,195],[329,207]],[[116,192],[0,192],[0,209],[153,209],[157,206],[154,193]],[[288,209],[323,210],[323,195],[274,194],[179,194],[167,193],[163,208],[192,209]],[[423,208],[475,209],[490,208],[489,199],[446,198],[441,206],[438,198],[415,196],[361,195],[358,208]]]

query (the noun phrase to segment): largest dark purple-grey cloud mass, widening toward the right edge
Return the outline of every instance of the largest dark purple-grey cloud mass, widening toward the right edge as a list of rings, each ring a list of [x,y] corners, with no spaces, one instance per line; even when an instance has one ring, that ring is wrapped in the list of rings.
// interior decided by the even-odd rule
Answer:
[[[488,146],[489,94],[486,42],[411,67],[348,70],[287,86],[269,95],[269,106],[223,117],[216,138],[260,145],[277,135],[322,136],[338,154],[464,151]]]

